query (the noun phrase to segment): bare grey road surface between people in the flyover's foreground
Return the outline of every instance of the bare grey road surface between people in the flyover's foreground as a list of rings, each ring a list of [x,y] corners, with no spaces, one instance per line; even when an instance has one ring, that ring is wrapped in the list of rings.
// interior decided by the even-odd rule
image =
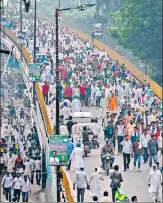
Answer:
[[[96,107],[86,108],[84,107],[82,111],[91,111],[94,113],[96,117],[99,117],[99,110]],[[100,147],[97,149],[92,149],[92,153],[89,154],[89,157],[84,158],[84,167],[88,176],[94,172],[96,167],[101,165],[100,152],[101,148],[104,145],[104,134],[101,129],[100,134]],[[138,170],[133,169],[133,159],[130,163],[130,169],[126,172],[123,172],[123,158],[122,155],[115,156],[114,164],[118,164],[120,167],[120,172],[123,175],[124,182],[122,183],[121,189],[128,195],[128,197],[132,197],[136,195],[138,197],[139,202],[151,202],[151,198],[148,195],[148,173],[149,166],[148,164],[142,163],[142,171],[138,172]],[[75,180],[75,170],[69,171],[71,180]],[[110,189],[110,179],[106,176],[105,171],[101,170],[101,174],[104,176],[104,181],[101,183],[101,196],[104,191],[108,191],[111,197],[111,189]],[[85,202],[90,202],[90,191],[86,191],[85,194]]]

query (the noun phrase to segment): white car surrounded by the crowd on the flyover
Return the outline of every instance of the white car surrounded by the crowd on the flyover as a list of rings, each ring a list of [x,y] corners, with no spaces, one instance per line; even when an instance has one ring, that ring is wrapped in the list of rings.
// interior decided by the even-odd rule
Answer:
[[[72,113],[72,120],[77,122],[79,127],[87,126],[91,124],[91,119],[94,119],[92,112],[74,112]]]

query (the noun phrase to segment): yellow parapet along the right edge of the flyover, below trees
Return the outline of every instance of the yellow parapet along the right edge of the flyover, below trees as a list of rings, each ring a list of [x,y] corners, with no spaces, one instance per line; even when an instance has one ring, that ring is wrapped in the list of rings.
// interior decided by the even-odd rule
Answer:
[[[68,30],[68,32],[70,33],[74,33],[76,34],[78,37],[86,40],[86,41],[90,41],[92,42],[91,37],[86,34],[81,32],[80,30],[74,29],[70,26],[64,25],[62,24],[62,26],[64,28],[66,28]],[[120,54],[118,54],[117,52],[113,51],[112,49],[110,49],[108,46],[106,46],[104,43],[98,41],[98,40],[94,40],[94,45],[100,49],[100,50],[106,50],[106,52],[115,60],[118,60],[120,64],[125,64],[127,70],[129,70],[131,72],[131,74],[137,78],[140,82],[144,82],[146,80],[147,83],[150,84],[152,91],[159,97],[162,99],[162,87],[159,86],[156,82],[154,82],[153,80],[151,80],[147,75],[145,75],[142,71],[140,71],[138,68],[136,68],[132,63],[130,63],[127,59],[125,59],[124,57],[122,57]]]

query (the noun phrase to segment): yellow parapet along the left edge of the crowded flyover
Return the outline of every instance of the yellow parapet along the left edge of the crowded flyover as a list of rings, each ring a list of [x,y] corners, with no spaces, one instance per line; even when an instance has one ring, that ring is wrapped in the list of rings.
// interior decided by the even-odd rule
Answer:
[[[16,44],[17,47],[20,48],[20,45],[17,44],[17,37],[7,28],[5,28],[5,33],[6,33],[7,37],[9,37],[14,42],[14,44]],[[22,46],[22,53],[23,53],[23,56],[26,59],[27,63],[31,63],[31,57],[30,57],[28,51],[26,50],[26,48],[23,46]],[[40,86],[38,83],[36,83],[36,91],[37,91],[37,95],[39,97],[39,101],[41,104],[41,109],[42,109],[42,112],[44,115],[48,134],[51,135],[51,134],[53,134],[53,128],[51,127],[50,120],[48,118],[48,113],[46,110],[46,106],[44,103],[43,95],[41,93]],[[62,167],[61,167],[61,171],[63,173],[62,182],[63,182],[64,188],[66,191],[67,200],[68,200],[68,202],[75,202],[75,197],[72,194],[72,184],[70,183],[70,180],[68,179],[68,176]]]

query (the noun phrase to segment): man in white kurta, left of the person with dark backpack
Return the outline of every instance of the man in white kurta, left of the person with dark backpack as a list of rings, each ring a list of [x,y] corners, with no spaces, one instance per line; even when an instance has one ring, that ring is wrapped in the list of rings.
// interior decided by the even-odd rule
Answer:
[[[90,192],[91,192],[91,197],[93,198],[94,196],[98,197],[100,196],[100,191],[101,191],[101,181],[103,181],[104,178],[100,174],[99,170],[95,168],[95,173],[91,174],[90,180],[89,180],[89,185],[90,185]]]

